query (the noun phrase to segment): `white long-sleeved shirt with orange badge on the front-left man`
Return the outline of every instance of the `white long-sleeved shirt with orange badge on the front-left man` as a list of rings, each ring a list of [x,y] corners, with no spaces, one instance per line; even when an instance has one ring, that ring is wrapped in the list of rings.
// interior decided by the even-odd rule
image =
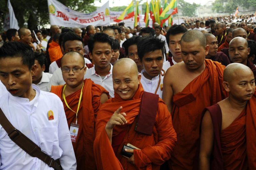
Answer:
[[[0,100],[0,108],[11,124],[37,144],[54,160],[60,159],[63,170],[76,169],[76,158],[70,139],[67,119],[60,98],[49,92],[40,91],[36,85],[36,96],[15,97],[9,92]],[[54,119],[48,120],[52,110]],[[8,136],[0,125],[0,169],[4,170],[53,170],[43,161],[31,157]]]

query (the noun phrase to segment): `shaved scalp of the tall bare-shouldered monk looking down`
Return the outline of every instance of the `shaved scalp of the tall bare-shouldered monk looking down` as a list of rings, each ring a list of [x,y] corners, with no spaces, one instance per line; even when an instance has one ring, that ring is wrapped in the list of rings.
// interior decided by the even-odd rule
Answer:
[[[200,45],[202,47],[205,47],[206,46],[206,39],[205,39],[205,36],[204,34],[199,31],[199,30],[189,30],[187,32],[185,32],[183,34],[183,36],[181,37],[181,43],[184,41],[184,42],[187,42],[187,43],[190,43],[190,42],[194,42],[196,40],[199,40],[200,42]]]

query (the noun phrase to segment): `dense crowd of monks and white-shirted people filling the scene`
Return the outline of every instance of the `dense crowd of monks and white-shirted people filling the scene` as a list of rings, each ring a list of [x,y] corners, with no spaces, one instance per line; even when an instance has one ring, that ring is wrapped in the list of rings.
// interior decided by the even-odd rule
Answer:
[[[184,21],[3,33],[0,169],[256,169],[255,17]]]

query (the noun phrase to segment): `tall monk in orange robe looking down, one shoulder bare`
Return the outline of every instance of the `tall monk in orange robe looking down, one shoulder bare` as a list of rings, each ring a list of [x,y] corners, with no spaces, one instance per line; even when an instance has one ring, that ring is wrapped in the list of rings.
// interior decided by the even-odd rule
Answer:
[[[183,62],[169,68],[164,77],[163,99],[177,133],[177,145],[169,161],[172,170],[192,170],[202,111],[226,98],[222,87],[225,66],[205,59],[208,51],[202,32],[186,32],[181,38]]]

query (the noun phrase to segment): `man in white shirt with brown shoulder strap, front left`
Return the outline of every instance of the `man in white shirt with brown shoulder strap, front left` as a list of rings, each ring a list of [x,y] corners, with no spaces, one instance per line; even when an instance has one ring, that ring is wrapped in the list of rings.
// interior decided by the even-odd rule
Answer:
[[[6,43],[0,48],[0,79],[9,91],[2,96],[0,108],[11,124],[42,152],[59,159],[63,170],[75,170],[76,159],[62,101],[32,85],[34,61],[32,49],[24,43]],[[0,169],[53,170],[16,145],[1,125]]]

